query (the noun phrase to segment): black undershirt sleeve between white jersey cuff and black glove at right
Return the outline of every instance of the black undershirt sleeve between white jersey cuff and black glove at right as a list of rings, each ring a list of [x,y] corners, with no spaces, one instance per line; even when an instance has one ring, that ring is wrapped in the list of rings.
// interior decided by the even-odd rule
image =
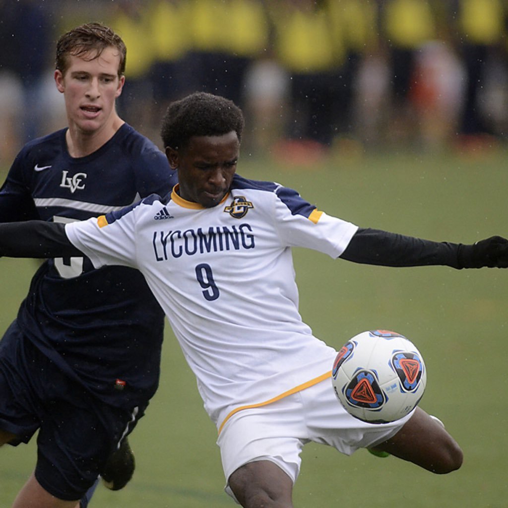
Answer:
[[[379,266],[444,265],[462,268],[459,262],[462,244],[433,242],[376,229],[360,228],[341,259]]]

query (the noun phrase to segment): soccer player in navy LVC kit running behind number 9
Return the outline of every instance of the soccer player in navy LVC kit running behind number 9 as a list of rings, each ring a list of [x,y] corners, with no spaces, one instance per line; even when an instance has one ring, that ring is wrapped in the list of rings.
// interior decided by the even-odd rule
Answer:
[[[54,79],[68,127],[21,149],[0,189],[0,221],[69,223],[170,192],[164,153],[116,112],[125,56],[99,23],[60,37]],[[39,431],[34,474],[13,508],[84,507],[98,475],[113,490],[130,480],[126,436],[157,389],[163,327],[138,271],[96,270],[83,256],[42,264],[0,342],[0,445]]]

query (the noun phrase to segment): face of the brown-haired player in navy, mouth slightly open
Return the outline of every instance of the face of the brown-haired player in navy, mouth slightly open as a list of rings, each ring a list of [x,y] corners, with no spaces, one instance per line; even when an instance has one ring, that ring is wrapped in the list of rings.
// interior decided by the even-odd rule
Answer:
[[[68,55],[65,75],[55,71],[56,87],[65,96],[69,127],[83,133],[95,133],[113,123],[115,100],[125,81],[118,77],[120,55],[116,48],[108,47],[98,58],[93,56],[93,51],[82,57]]]

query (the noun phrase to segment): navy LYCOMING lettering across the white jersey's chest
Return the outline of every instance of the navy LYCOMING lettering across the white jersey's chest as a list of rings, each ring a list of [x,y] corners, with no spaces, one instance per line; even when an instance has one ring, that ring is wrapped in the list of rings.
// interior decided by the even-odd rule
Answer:
[[[239,226],[210,226],[185,231],[154,231],[153,251],[156,261],[167,261],[169,257],[194,256],[207,252],[252,249],[255,239],[249,224]]]

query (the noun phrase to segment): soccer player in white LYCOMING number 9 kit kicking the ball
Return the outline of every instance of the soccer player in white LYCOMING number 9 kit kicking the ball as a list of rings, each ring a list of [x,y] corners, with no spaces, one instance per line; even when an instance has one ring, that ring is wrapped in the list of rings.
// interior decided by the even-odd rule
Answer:
[[[226,490],[245,508],[291,508],[309,441],[388,452],[434,473],[459,468],[458,444],[421,408],[369,424],[337,402],[337,352],[301,320],[291,247],[376,265],[506,268],[508,240],[463,245],[358,228],[295,190],[237,175],[242,130],[224,98],[171,104],[162,138],[179,183],[170,195],[65,226],[0,224],[0,255],[84,252],[96,267],[141,271],[217,426]]]

